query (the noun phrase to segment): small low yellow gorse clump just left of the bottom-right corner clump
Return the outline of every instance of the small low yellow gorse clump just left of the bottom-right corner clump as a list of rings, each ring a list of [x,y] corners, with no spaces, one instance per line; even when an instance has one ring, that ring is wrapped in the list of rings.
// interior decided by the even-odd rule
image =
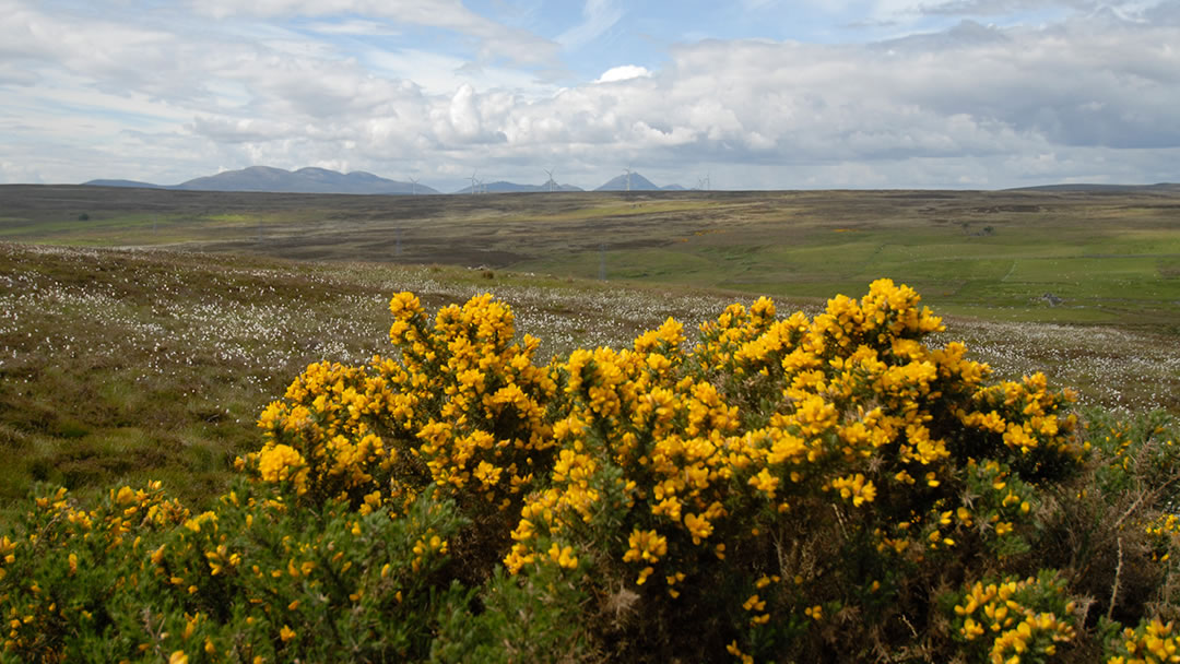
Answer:
[[[992,664],[1041,662],[1053,657],[1060,644],[1076,637],[1074,604],[1066,603],[1061,616],[1028,605],[1044,591],[1054,599],[1061,597],[1060,587],[1042,584],[1036,578],[976,583],[955,606],[955,614],[962,622],[959,636],[968,642],[991,639],[988,657]]]

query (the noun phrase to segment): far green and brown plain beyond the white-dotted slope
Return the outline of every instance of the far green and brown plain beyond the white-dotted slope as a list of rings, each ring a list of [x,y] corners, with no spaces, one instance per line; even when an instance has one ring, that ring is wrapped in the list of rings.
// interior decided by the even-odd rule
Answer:
[[[825,298],[889,276],[988,320],[1180,331],[1180,195],[294,196],[0,186],[0,239],[487,267]],[[79,217],[85,215],[86,221]]]

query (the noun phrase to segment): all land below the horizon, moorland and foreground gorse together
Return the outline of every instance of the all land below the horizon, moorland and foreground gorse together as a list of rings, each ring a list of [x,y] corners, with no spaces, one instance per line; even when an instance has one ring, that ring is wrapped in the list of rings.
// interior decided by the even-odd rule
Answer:
[[[1125,662],[1174,651],[1180,636],[1160,620],[1180,616],[1167,415],[1180,412],[1178,210],[1166,188],[0,186],[0,521],[17,524],[15,539],[0,538],[0,601],[20,616],[4,656]],[[817,316],[878,277],[917,288],[946,330],[925,335],[929,316],[884,282],[859,303],[827,303],[863,318]],[[391,317],[402,291],[417,297],[394,297]],[[512,316],[471,300],[483,292]],[[760,295],[780,318],[809,316],[796,318],[811,321],[796,323],[811,330],[804,341],[789,342],[807,351],[802,364],[762,343],[787,330],[763,329]],[[721,315],[734,301],[749,315]],[[447,310],[458,318],[430,323],[464,302]],[[856,353],[835,343],[864,335],[872,311],[897,317],[894,331],[858,336],[867,346]],[[446,323],[464,317],[470,327]],[[700,328],[710,341],[690,350],[668,317],[689,341],[714,321]],[[539,340],[538,366],[555,357],[566,389],[509,361],[519,350],[497,330],[513,327]],[[657,331],[635,341],[638,364],[603,349],[643,330]],[[931,350],[887,338],[918,330]],[[503,389],[468,399],[479,376],[418,357],[422,338],[455,362],[481,356]],[[1017,382],[978,386],[953,340],[992,380]],[[348,373],[375,353],[408,373],[381,362],[363,380]],[[860,369],[846,372],[853,357]],[[916,357],[940,366],[937,383]],[[1036,372],[1048,383],[1022,379]],[[303,387],[288,390],[296,377]],[[401,388],[381,396],[379,384]],[[1066,387],[1080,390],[1076,412],[1061,409]],[[381,400],[366,406],[356,389]],[[629,416],[610,415],[603,395],[615,393]],[[543,416],[532,399],[548,403]],[[657,399],[668,414],[649,421]],[[510,401],[519,414],[505,419]],[[550,434],[559,449],[535,447]],[[801,447],[760,451],[762,438],[796,434]],[[707,442],[722,440],[745,452]],[[661,466],[627,461],[636,441]],[[113,488],[124,484],[144,488]],[[68,497],[47,488],[59,485]],[[669,515],[657,502],[668,487],[700,513]],[[586,489],[610,499],[586,502]],[[41,498],[22,501],[30,491]],[[536,502],[546,497],[556,520]],[[537,531],[526,508],[545,514]],[[409,518],[386,518],[399,513]],[[519,576],[493,571],[503,565]],[[1018,624],[997,613],[1009,610]],[[518,614],[529,619],[505,619]]]

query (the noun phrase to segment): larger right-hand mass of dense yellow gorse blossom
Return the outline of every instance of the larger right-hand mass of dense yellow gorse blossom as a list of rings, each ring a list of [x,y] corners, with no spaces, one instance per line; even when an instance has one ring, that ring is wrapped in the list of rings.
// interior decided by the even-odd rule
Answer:
[[[522,509],[506,566],[543,561],[537,553],[552,540],[576,540],[617,509],[610,518],[632,534],[616,559],[635,566],[637,584],[657,565],[675,578],[750,537],[727,524],[732,505],[754,500],[789,519],[824,492],[852,507],[883,497],[898,507],[890,512],[903,520],[873,531],[881,551],[913,547],[920,560],[924,550],[955,546],[942,528],[948,514],[959,514],[959,527],[975,524],[970,505],[949,502],[957,485],[943,486],[959,481],[957,464],[1035,451],[1071,464],[1080,453],[1068,400],[1043,376],[984,386],[988,367],[966,360],[962,343],[920,343],[942,324],[918,302],[880,280],[859,302],[833,298],[814,320],[776,318],[766,298],[748,310],[733,304],[691,349],[669,320],[631,349],[573,351],[557,367],[558,461]],[[963,423],[971,435],[945,438]],[[1003,535],[1011,521],[1001,508],[1029,505],[997,500],[982,521]],[[661,543],[658,554],[648,541]]]

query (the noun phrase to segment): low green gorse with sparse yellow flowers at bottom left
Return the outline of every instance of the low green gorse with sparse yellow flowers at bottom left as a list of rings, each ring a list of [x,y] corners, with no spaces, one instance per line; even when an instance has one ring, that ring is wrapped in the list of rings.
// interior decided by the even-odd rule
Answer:
[[[4,662],[381,662],[424,658],[459,524],[424,497],[402,518],[293,508],[238,484],[197,515],[158,487],[91,511],[37,501],[0,583]]]

